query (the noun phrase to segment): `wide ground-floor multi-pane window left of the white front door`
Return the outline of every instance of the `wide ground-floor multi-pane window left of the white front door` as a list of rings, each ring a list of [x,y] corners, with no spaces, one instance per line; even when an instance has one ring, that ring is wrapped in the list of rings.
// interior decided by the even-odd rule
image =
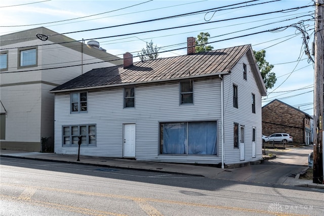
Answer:
[[[96,145],[96,125],[63,126],[63,147],[78,146],[78,137],[81,137],[82,146]]]

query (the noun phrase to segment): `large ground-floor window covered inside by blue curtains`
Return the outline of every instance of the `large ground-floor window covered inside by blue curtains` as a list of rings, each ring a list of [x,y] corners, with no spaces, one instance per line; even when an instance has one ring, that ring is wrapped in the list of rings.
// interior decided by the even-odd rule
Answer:
[[[161,154],[217,154],[217,122],[160,123]]]

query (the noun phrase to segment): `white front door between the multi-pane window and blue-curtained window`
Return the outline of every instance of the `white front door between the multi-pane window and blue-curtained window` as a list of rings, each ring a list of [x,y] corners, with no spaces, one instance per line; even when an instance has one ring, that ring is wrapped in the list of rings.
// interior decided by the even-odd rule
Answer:
[[[135,157],[135,124],[124,124],[124,157]]]

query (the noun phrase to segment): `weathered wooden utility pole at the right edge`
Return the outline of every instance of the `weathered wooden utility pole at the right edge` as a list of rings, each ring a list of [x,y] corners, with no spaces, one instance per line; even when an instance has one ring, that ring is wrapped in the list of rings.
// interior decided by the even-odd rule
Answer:
[[[324,11],[323,0],[315,2],[315,35],[314,35],[314,162],[313,183],[323,184],[323,37]]]

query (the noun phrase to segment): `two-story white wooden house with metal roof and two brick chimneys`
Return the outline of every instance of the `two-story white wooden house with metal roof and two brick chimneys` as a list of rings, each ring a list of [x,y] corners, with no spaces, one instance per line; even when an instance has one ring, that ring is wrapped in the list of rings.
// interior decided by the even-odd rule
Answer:
[[[93,69],[55,93],[55,152],[233,164],[262,158],[261,96],[251,45]]]

